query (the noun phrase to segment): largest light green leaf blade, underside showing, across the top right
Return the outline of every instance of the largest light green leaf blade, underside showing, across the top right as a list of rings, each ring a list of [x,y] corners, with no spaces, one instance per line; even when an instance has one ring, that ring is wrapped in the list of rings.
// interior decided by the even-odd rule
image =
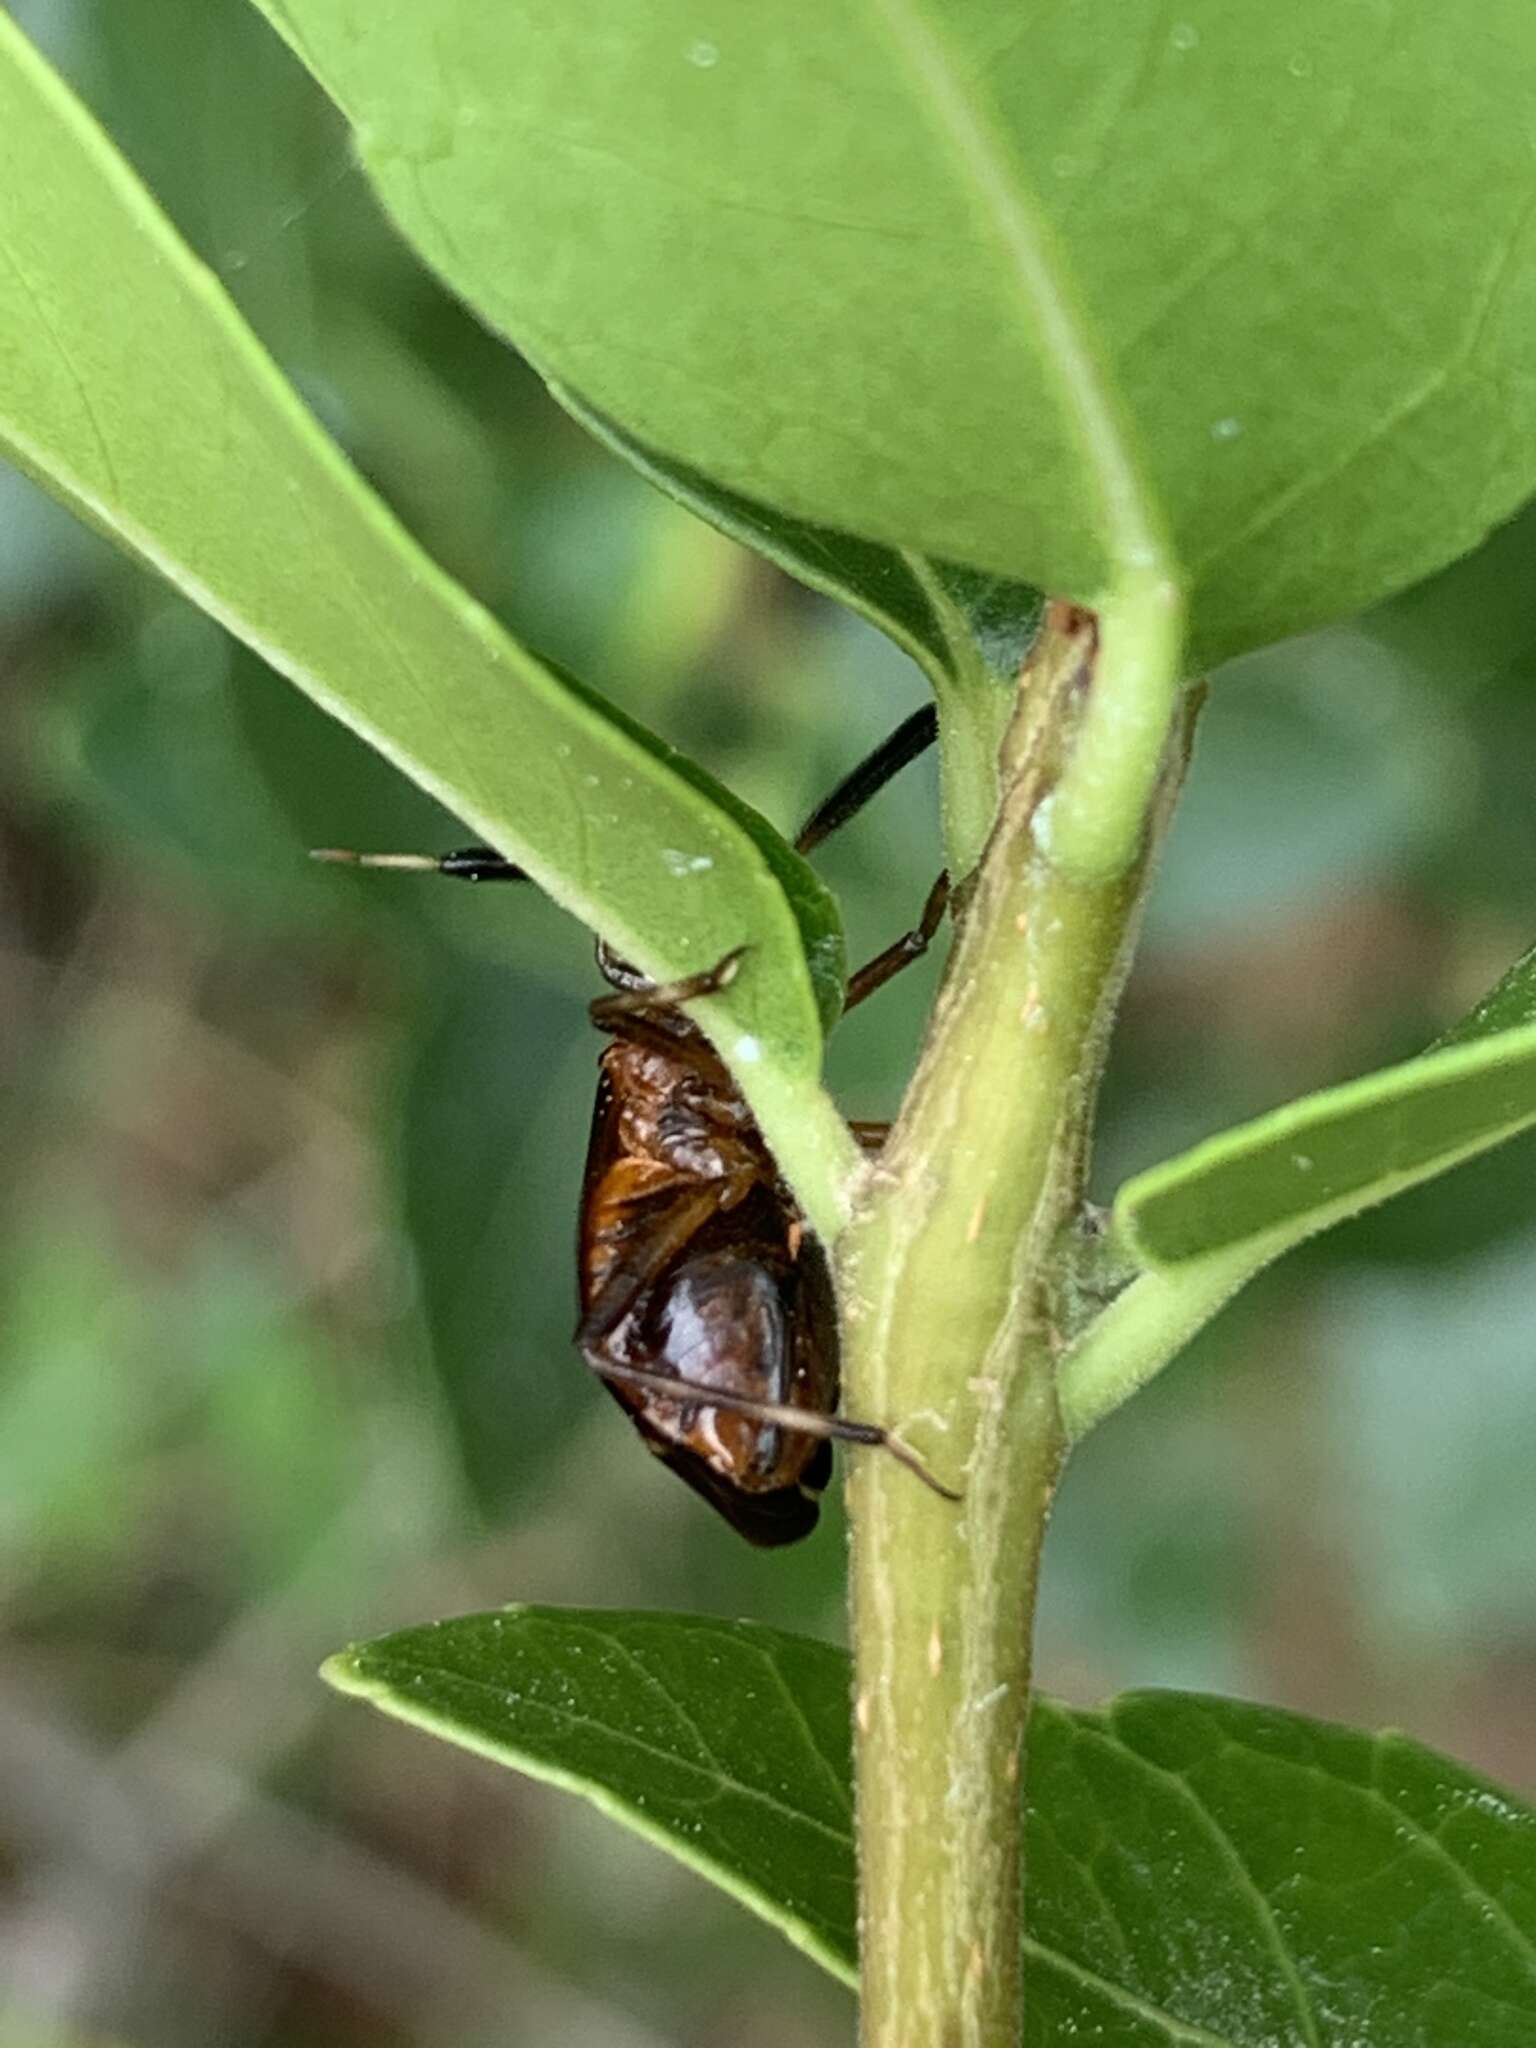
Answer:
[[[1536,16],[258,0],[418,250],[625,432],[1198,662],[1536,485]]]

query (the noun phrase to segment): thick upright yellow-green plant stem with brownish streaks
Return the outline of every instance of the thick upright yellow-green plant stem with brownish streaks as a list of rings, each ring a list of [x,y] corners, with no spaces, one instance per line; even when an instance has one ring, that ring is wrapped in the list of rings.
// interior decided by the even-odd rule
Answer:
[[[850,1479],[862,2025],[868,2048],[1016,2048],[1030,1620],[1065,1454],[1057,1260],[1147,846],[1063,874],[1040,807],[1092,698],[1094,627],[1051,606],[1004,743],[1004,801],[911,1092],[840,1243],[850,1413],[893,1458]],[[1171,797],[1184,733],[1165,748]]]

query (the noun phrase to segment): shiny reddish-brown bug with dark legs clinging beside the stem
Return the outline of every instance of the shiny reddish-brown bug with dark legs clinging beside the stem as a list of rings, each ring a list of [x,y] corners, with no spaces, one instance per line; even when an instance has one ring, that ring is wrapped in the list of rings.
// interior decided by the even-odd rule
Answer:
[[[817,805],[795,846],[809,852],[934,741],[924,707]],[[526,881],[494,848],[317,860],[426,868],[463,881]],[[852,1010],[928,950],[948,903],[934,883],[918,926],[848,983]],[[741,950],[686,981],[651,983],[598,940],[608,1032],[598,1071],[582,1206],[575,1346],[649,1448],[754,1544],[809,1536],[831,1477],[831,1440],[879,1444],[946,1493],[874,1423],[836,1415],[838,1321],[827,1260],[805,1227],[762,1133],[684,1004],[713,995]],[[866,1149],[885,1124],[854,1124]],[[686,1393],[684,1393],[686,1391]]]

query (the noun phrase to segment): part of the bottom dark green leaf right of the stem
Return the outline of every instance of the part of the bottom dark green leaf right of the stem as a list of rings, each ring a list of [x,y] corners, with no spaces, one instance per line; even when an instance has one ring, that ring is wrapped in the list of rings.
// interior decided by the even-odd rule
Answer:
[[[1028,1870],[1030,2042],[1518,2048],[1536,2025],[1536,1815],[1403,1735],[1198,1694],[1040,1706]]]

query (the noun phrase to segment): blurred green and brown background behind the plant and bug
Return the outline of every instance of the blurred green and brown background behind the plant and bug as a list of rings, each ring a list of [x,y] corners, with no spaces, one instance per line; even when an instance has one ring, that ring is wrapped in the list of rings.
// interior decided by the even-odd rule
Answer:
[[[244,0],[12,10],[516,633],[788,827],[920,700],[432,285]],[[1526,518],[1219,678],[1104,1194],[1419,1047],[1536,936],[1534,551]],[[313,1677],[504,1599],[842,1630],[836,1505],[754,1554],[571,1352],[586,936],[309,866],[463,834],[4,471],[0,721],[0,2044],[848,2040],[719,1894]],[[936,866],[924,764],[825,852],[856,956]],[[840,1034],[850,1114],[893,1108],[934,969]],[[1044,1686],[1391,1720],[1536,1782],[1534,1165],[1292,1257],[1085,1446]]]

